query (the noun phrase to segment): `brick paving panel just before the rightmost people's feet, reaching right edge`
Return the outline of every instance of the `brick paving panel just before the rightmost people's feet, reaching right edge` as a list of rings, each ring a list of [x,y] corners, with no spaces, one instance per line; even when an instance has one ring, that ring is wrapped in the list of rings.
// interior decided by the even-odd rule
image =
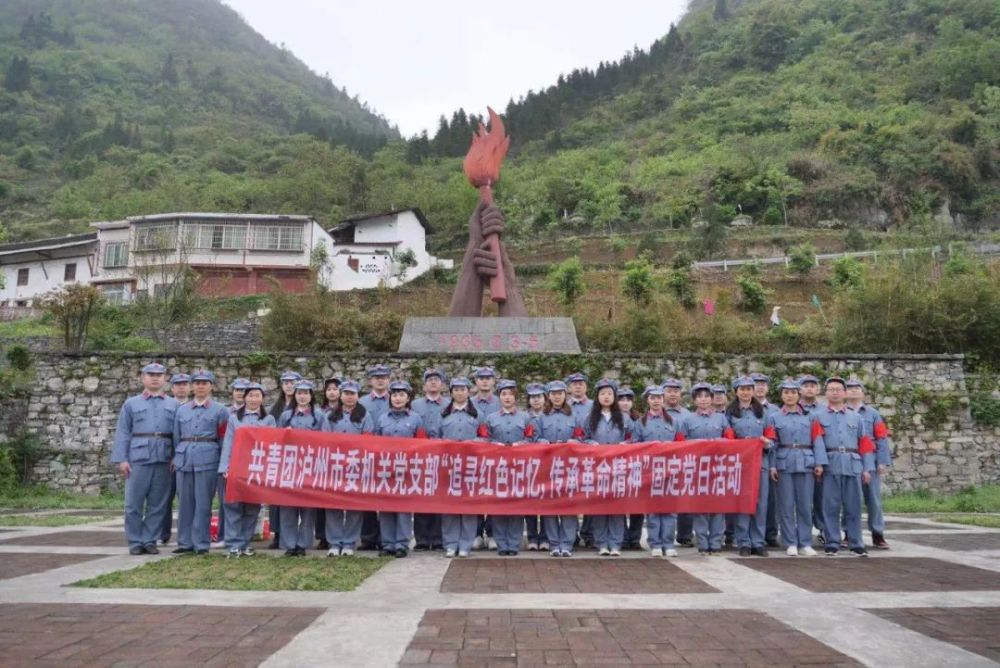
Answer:
[[[1000,573],[922,557],[734,559],[812,592],[1000,590]]]

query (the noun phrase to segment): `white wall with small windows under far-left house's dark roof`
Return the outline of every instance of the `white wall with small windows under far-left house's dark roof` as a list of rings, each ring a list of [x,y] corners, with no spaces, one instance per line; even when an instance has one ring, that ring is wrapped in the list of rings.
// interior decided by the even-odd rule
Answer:
[[[34,300],[52,290],[73,283],[90,283],[94,246],[91,242],[84,246],[43,251],[49,256],[45,258],[31,250],[0,257],[0,272],[4,278],[4,286],[0,288],[0,306],[31,306]],[[67,270],[67,265],[72,269]]]

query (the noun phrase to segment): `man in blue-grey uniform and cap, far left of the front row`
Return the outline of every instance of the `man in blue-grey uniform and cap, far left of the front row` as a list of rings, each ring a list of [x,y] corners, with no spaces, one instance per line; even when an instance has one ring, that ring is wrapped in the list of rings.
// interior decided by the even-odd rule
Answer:
[[[125,476],[125,537],[129,554],[159,554],[156,540],[169,512],[177,402],[163,393],[166,368],[142,368],[142,393],[122,406],[111,462]]]

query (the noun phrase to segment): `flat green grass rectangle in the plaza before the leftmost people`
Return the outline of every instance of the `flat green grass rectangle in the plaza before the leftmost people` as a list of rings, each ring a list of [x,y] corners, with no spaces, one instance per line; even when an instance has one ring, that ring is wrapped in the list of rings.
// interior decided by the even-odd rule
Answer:
[[[351,591],[388,558],[285,558],[258,555],[183,556],[73,583],[108,589],[223,589],[229,591]]]

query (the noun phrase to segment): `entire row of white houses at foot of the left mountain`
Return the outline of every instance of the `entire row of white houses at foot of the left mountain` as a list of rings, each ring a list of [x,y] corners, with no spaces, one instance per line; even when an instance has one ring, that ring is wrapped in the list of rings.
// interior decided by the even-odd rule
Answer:
[[[328,233],[309,216],[161,213],[91,223],[96,232],[0,246],[0,307],[30,307],[73,282],[113,303],[172,285],[179,268],[209,296],[396,287],[434,266],[420,209],[348,218]]]

